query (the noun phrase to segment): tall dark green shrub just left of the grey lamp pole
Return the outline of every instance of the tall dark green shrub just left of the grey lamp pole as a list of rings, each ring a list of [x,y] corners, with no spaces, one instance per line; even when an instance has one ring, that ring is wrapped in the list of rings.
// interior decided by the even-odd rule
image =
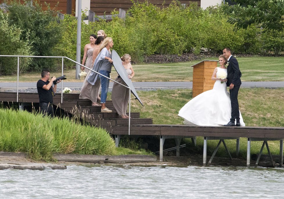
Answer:
[[[13,0],[8,5],[8,23],[22,30],[20,38],[32,46],[35,56],[53,56],[54,46],[59,41],[61,34],[56,22],[57,11],[43,11],[42,7],[33,1],[33,6],[29,2],[24,4]],[[27,38],[26,35],[29,35]],[[33,58],[29,69],[41,70],[42,68],[54,69],[55,59],[53,58]]]

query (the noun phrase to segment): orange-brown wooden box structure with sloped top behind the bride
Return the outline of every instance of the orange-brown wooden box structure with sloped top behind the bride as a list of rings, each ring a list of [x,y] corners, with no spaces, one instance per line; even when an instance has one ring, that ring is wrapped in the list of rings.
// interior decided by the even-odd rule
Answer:
[[[215,81],[211,79],[218,60],[203,60],[193,66],[192,97],[211,90]]]

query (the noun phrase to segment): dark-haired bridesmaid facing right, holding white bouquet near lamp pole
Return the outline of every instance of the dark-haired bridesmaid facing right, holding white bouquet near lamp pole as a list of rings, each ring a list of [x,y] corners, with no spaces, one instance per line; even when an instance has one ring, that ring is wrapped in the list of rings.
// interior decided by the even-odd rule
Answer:
[[[90,43],[86,44],[84,47],[84,56],[83,56],[83,60],[82,60],[82,65],[85,64],[86,61],[86,65],[88,68],[92,67],[92,56],[93,56],[93,50],[95,47],[95,41],[97,39],[96,35],[90,35]],[[87,60],[86,60],[87,57]],[[89,72],[89,69],[84,68],[83,66],[81,66],[82,71],[85,70],[86,73]]]

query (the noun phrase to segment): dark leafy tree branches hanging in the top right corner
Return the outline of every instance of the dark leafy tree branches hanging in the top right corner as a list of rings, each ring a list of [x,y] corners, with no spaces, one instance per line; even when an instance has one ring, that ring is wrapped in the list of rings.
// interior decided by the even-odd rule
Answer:
[[[255,24],[266,30],[282,31],[284,28],[284,0],[232,0],[237,5],[225,4],[223,10],[228,21],[237,28]]]

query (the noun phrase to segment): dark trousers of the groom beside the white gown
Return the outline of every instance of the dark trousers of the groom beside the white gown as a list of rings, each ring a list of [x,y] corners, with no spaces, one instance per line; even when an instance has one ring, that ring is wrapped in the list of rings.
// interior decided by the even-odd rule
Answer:
[[[231,98],[231,122],[240,122],[240,112],[239,112],[239,102],[238,102],[238,93],[240,86],[234,86],[233,89],[230,89],[230,98]]]

